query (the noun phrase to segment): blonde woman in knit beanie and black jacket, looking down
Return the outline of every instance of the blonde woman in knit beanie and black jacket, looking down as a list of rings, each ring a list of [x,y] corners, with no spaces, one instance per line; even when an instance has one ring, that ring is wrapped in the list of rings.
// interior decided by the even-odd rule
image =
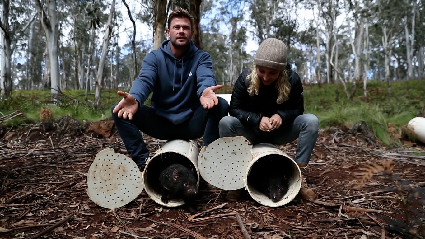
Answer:
[[[319,120],[314,114],[303,114],[303,85],[298,74],[286,67],[286,55],[281,40],[268,38],[261,43],[254,64],[235,83],[230,116],[221,119],[219,131],[220,137],[241,135],[253,144],[282,145],[298,139],[295,162],[303,169],[316,143]],[[300,195],[316,196],[304,178]]]

